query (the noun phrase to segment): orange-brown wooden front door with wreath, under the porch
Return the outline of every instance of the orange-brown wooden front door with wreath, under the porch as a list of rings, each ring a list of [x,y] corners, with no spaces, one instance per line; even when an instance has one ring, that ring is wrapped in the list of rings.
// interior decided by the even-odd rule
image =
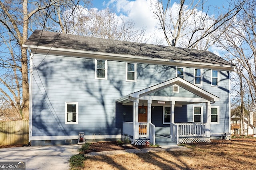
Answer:
[[[148,107],[139,106],[139,135],[147,134]]]

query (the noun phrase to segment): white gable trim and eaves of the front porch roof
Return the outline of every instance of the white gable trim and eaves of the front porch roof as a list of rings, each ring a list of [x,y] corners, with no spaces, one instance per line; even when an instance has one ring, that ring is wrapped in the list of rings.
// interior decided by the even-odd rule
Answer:
[[[201,98],[204,98],[205,100],[209,101],[209,102],[214,102],[214,101],[218,101],[219,98],[209,92],[207,92],[206,90],[203,90],[202,88],[199,88],[198,86],[195,86],[194,84],[180,78],[180,77],[176,77],[170,80],[167,80],[165,82],[162,82],[160,84],[156,84],[154,86],[145,88],[143,90],[140,90],[138,92],[134,92],[131,94],[128,94],[122,98],[119,98],[118,100],[116,100],[116,102],[118,103],[127,103],[127,102],[131,102],[133,100],[136,100],[138,98],[141,98],[143,96],[146,96],[148,94],[151,94],[153,92],[157,92],[159,90],[162,90],[164,88],[170,87],[172,85],[178,85],[194,94],[196,94],[197,96],[200,96]]]

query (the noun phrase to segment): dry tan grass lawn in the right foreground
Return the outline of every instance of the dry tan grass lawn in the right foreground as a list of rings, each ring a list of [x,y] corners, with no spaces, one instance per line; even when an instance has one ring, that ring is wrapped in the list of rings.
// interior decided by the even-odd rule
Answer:
[[[256,169],[256,139],[221,140],[212,143],[192,143],[186,146],[192,150],[86,157],[84,169]]]

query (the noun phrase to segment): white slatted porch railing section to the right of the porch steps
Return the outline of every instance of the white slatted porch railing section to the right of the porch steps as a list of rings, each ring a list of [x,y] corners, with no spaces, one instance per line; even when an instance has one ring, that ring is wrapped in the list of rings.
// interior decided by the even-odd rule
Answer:
[[[175,123],[179,137],[206,137],[207,123]]]

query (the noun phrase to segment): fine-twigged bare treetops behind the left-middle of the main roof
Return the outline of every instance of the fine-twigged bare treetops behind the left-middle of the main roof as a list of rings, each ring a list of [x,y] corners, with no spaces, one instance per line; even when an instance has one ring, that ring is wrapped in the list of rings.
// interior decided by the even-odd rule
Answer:
[[[70,12],[67,11],[66,17]],[[135,28],[135,23],[117,16],[109,8],[98,10],[77,8],[66,24],[67,33],[122,41],[145,42],[145,28]]]

